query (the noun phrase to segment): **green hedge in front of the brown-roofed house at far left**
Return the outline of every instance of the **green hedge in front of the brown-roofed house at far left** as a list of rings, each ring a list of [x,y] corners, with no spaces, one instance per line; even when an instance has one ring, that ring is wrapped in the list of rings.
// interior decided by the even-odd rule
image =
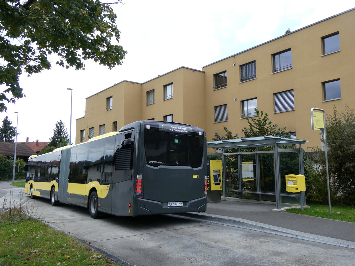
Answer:
[[[19,165],[20,164],[20,165]],[[24,178],[25,172],[23,171],[26,162],[22,159],[17,159],[15,163],[15,179]],[[8,159],[4,155],[0,155],[0,180],[12,179],[13,172],[13,158]]]

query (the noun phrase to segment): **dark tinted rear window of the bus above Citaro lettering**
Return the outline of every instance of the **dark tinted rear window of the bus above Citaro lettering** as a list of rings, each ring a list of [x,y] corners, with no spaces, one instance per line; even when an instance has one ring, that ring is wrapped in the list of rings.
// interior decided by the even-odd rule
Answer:
[[[192,136],[165,132],[145,132],[144,148],[147,163],[152,166],[202,165],[203,136]]]

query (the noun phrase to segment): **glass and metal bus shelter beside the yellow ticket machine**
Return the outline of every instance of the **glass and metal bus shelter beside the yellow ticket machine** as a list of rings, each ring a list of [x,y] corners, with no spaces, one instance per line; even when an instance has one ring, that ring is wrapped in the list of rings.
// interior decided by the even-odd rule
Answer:
[[[274,136],[226,139],[207,142],[222,154],[223,196],[305,205],[305,192],[286,192],[286,174],[302,174],[303,150],[307,140]],[[298,148],[297,148],[298,146]]]

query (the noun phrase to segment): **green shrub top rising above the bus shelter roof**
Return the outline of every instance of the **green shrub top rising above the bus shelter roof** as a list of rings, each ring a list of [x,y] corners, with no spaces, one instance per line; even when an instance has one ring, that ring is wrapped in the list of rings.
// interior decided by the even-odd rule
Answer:
[[[245,138],[260,136],[276,136],[288,138],[290,136],[291,131],[286,132],[285,127],[278,128],[277,124],[273,125],[272,122],[269,121],[267,113],[259,111],[256,108],[254,110],[256,112],[256,117],[245,117],[249,124],[249,128],[245,127],[242,129]]]

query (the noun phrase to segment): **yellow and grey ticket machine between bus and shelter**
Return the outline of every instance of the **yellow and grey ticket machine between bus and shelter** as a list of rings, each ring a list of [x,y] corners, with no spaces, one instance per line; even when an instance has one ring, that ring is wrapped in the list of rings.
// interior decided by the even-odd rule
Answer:
[[[222,160],[207,160],[207,202],[221,202]]]

